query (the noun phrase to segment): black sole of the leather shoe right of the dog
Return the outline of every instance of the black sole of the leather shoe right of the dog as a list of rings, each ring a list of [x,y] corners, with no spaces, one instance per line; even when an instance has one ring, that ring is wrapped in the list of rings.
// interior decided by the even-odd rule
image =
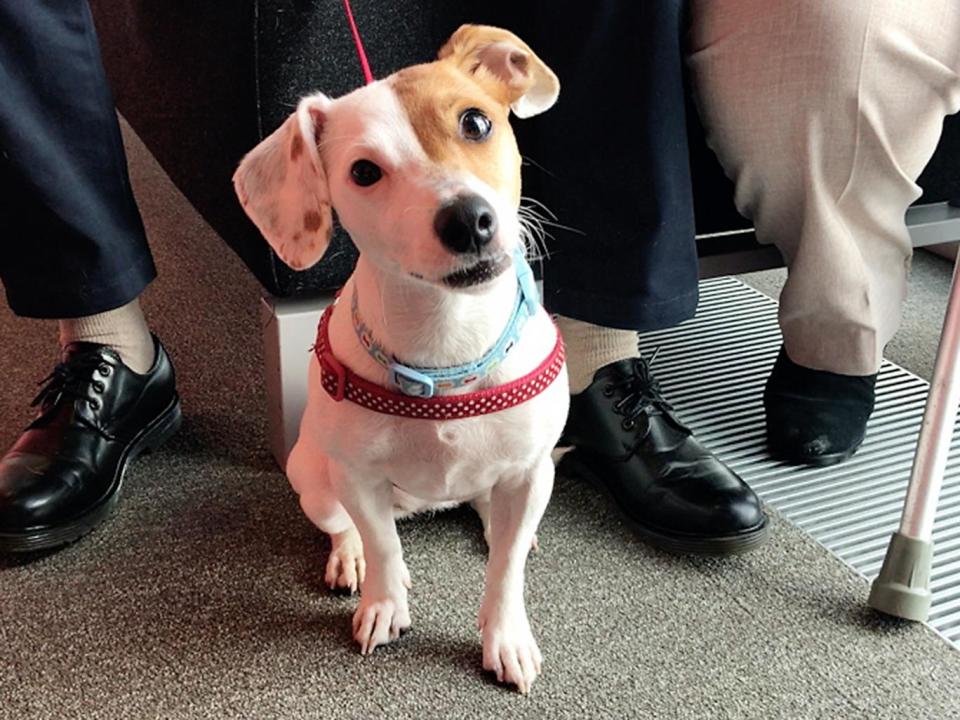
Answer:
[[[755,528],[736,535],[709,538],[670,535],[659,528],[637,522],[623,511],[606,483],[600,479],[589,462],[582,458],[576,449],[569,451],[561,458],[557,465],[557,473],[587,480],[607,497],[610,504],[616,509],[617,514],[631,530],[654,547],[675,555],[739,555],[755,550],[765,543],[770,536],[770,522],[766,515],[764,515],[763,523]]]

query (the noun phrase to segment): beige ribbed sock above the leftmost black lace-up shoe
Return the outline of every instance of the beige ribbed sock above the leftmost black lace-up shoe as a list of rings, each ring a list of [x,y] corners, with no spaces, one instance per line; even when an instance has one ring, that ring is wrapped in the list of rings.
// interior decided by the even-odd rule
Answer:
[[[109,345],[135,373],[147,372],[156,356],[139,300],[96,315],[61,320],[60,344],[72,342]]]

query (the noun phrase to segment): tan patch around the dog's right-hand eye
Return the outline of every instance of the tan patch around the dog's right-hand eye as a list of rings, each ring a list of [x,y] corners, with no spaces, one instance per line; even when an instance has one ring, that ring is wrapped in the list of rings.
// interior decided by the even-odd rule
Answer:
[[[471,76],[444,62],[401,70],[390,84],[433,163],[474,175],[514,205],[520,204],[520,154],[505,98],[492,97]],[[460,135],[460,116],[472,108],[493,123],[482,142]]]

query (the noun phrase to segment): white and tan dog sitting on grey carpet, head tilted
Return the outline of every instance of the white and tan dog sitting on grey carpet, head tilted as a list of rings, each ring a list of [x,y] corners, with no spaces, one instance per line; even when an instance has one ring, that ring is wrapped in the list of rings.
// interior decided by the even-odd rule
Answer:
[[[465,25],[435,62],[330,99],[304,98],[234,178],[247,213],[293,268],[317,262],[331,206],[360,250],[329,319],[332,354],[388,386],[356,318],[404,363],[444,368],[483,356],[514,312],[522,247],[520,155],[508,121],[556,101],[556,76],[522,41]],[[351,312],[351,301],[355,312]],[[502,362],[473,385],[500,386],[559,347],[538,304]],[[562,361],[562,356],[561,356]],[[363,653],[410,626],[395,517],[470,502],[489,545],[480,608],[483,667],[527,691],[541,655],[523,599],[527,553],[553,486],[551,449],[567,414],[565,369],[532,399],[492,414],[430,420],[338,402],[311,362],[309,398],[287,475],[330,534],[326,580],[361,597]],[[440,393],[443,394],[443,393]]]

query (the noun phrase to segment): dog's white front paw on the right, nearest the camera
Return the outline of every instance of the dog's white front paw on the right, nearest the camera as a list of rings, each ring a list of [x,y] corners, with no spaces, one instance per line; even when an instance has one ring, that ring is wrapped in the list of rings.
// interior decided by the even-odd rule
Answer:
[[[530,686],[540,674],[543,656],[523,608],[481,610],[480,631],[483,669],[496,674],[499,682],[516,685],[522,693],[530,692]]]

